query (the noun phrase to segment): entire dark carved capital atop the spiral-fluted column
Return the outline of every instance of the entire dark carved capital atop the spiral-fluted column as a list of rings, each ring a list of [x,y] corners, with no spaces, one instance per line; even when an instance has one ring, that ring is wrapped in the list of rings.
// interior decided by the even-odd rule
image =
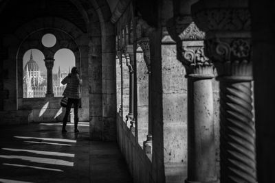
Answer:
[[[250,12],[248,1],[199,1],[192,5],[193,19],[208,35],[206,55],[220,77],[252,80]]]

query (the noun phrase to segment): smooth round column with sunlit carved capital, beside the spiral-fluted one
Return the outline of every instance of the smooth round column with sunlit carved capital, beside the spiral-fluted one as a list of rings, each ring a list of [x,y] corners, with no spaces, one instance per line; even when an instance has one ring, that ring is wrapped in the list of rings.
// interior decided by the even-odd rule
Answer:
[[[188,78],[188,177],[186,183],[217,182],[214,145],[214,106],[212,62],[204,55],[205,33],[190,16],[174,24],[177,58],[186,68]],[[179,34],[175,37],[175,33]]]

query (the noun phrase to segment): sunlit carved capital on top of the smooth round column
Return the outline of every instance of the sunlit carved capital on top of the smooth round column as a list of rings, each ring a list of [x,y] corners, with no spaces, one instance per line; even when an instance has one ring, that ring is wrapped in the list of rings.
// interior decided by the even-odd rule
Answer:
[[[173,26],[172,25],[173,22]],[[205,32],[202,32],[191,16],[173,18],[168,31],[177,42],[177,59],[186,67],[190,77],[214,77],[213,64],[204,54]]]

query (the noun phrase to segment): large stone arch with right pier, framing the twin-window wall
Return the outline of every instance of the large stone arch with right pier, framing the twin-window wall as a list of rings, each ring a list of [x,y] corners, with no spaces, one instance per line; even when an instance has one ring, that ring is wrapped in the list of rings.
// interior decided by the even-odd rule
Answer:
[[[11,0],[2,0],[0,12],[5,8],[4,4]],[[8,58],[14,62],[5,62],[3,69],[9,72],[12,81],[8,84],[7,90],[12,91],[9,95],[7,103],[16,103],[10,105],[7,110],[19,110],[17,98],[17,58],[19,58],[19,47],[25,38],[42,31],[43,29],[58,29],[67,33],[78,45],[80,49],[81,67],[83,72],[83,93],[89,98],[85,100],[87,106],[87,114],[89,117],[85,121],[90,122],[91,138],[115,140],[115,116],[116,116],[116,95],[115,95],[115,36],[114,26],[110,21],[111,11],[106,0],[89,0],[76,1],[69,0],[76,9],[83,15],[81,19],[85,19],[85,26],[78,27],[72,21],[66,21],[57,16],[48,15],[45,12],[41,18],[26,17],[29,22],[22,25],[20,22],[17,26],[21,26],[15,30],[14,27],[7,27],[5,32],[8,36],[3,37],[3,47],[8,49]],[[5,3],[4,3],[5,2]],[[3,5],[3,6],[2,6]],[[6,6],[8,7],[8,6]],[[76,14],[78,12],[76,11]],[[87,31],[87,32],[86,32]],[[10,41],[12,40],[12,41]],[[22,45],[22,47],[31,47],[31,44]],[[49,53],[52,54],[52,53]],[[16,89],[14,89],[16,88]],[[96,89],[94,89],[96,88]],[[89,110],[90,108],[90,110]]]

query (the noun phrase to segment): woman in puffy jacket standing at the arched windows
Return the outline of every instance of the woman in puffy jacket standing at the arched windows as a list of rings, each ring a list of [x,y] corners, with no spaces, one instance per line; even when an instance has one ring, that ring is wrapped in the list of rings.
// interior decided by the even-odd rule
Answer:
[[[68,97],[65,117],[63,119],[63,127],[62,132],[67,132],[66,124],[69,116],[69,112],[72,108],[72,104],[74,104],[74,132],[77,133],[78,131],[78,108],[80,105],[81,93],[80,93],[80,86],[82,84],[82,80],[79,77],[78,70],[76,66],[72,68],[71,73],[67,77],[64,78],[61,82],[62,84],[67,84],[63,96]]]

